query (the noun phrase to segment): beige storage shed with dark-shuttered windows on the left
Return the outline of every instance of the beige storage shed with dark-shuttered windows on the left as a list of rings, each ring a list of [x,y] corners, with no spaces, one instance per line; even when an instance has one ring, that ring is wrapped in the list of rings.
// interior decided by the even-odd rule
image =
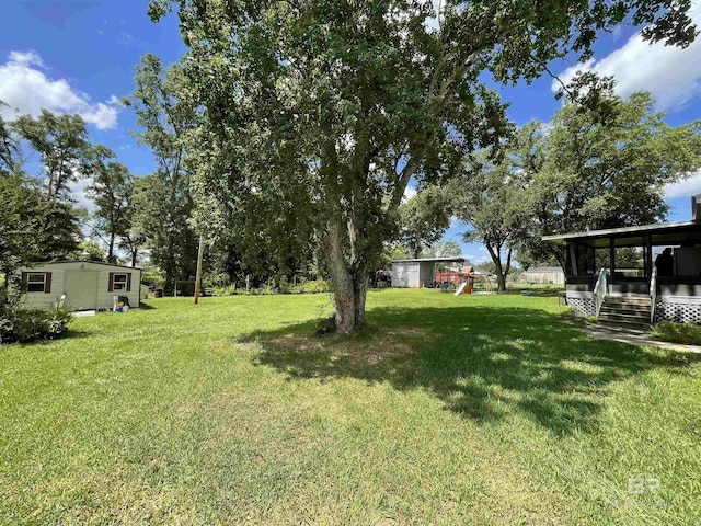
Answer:
[[[31,309],[48,309],[64,299],[71,310],[114,307],[115,296],[126,296],[139,307],[141,268],[96,261],[37,263],[22,272],[22,296]]]

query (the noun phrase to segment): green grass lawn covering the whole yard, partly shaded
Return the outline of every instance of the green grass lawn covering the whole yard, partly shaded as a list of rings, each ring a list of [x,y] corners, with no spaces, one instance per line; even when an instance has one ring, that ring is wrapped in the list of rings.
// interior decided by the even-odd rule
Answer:
[[[698,357],[554,297],[376,291],[318,340],[330,308],[150,300],[1,347],[0,524],[698,524]]]

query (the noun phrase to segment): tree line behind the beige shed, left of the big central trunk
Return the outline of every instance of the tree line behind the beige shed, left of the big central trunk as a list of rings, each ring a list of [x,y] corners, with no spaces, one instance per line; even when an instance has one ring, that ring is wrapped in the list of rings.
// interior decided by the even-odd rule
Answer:
[[[90,140],[79,115],[43,110],[36,117],[0,117],[0,274],[9,283],[21,266],[42,261],[80,259],[146,265],[150,285],[173,294],[194,282],[198,238],[194,222],[196,181],[186,162],[186,137],[202,125],[202,112],[183,96],[183,68],[164,67],[146,55],[136,67],[136,89],[122,102],[137,115],[133,134],[157,161],[151,174],[135,175],[104,145]],[[0,101],[0,104],[3,104]],[[33,172],[32,172],[33,170]],[[80,206],[72,188],[87,181],[92,210]],[[263,213],[263,210],[261,210]],[[267,210],[262,221],[275,217]],[[205,267],[218,284],[319,277],[318,255],[310,247],[287,245],[255,228],[207,226]],[[281,227],[284,228],[284,227]],[[276,258],[272,254],[286,255]],[[1,285],[1,284],[0,284]],[[186,287],[185,287],[186,288]],[[192,288],[192,287],[191,287]],[[3,300],[5,287],[3,287]]]

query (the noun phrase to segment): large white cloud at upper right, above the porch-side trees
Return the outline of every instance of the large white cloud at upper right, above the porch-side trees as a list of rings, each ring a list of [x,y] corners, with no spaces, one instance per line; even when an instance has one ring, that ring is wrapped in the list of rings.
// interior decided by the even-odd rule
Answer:
[[[701,24],[701,1],[691,5],[689,14]],[[572,66],[560,78],[567,83],[578,70],[613,76],[622,96],[650,91],[658,110],[677,108],[701,93],[701,38],[680,49],[664,43],[651,45],[636,33],[610,55]],[[560,83],[553,81],[551,89],[558,91]]]

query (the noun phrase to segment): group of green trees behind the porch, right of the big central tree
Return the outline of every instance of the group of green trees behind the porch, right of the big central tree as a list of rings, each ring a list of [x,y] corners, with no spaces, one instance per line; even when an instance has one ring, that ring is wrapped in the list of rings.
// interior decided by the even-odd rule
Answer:
[[[650,93],[623,99],[611,82],[599,96],[516,129],[497,157],[467,156],[460,176],[400,206],[399,247],[417,256],[452,216],[468,226],[464,241],[484,244],[505,290],[516,259],[570,271],[543,236],[664,220],[664,186],[701,168],[701,121],[669,126]]]

